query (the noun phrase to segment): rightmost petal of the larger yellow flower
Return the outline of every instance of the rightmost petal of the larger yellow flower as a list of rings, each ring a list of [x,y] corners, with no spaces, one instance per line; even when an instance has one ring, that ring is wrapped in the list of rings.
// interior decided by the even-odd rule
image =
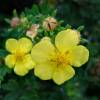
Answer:
[[[86,47],[79,45],[72,49],[71,64],[80,67],[88,61],[89,51]]]

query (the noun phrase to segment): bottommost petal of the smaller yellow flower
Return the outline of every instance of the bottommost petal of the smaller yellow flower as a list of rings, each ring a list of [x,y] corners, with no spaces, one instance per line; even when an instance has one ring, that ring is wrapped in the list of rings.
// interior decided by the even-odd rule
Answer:
[[[21,63],[21,62],[17,62],[14,68],[14,72],[19,75],[19,76],[24,76],[28,73],[28,69],[26,68],[26,66]]]

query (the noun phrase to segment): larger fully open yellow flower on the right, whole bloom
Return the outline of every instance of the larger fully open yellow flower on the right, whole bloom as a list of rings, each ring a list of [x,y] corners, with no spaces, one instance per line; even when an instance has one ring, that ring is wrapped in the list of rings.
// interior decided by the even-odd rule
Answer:
[[[32,58],[36,62],[35,75],[42,80],[53,79],[60,85],[71,79],[75,71],[71,66],[80,67],[88,61],[89,51],[78,45],[77,31],[67,29],[58,33],[53,45],[48,37],[32,48]]]

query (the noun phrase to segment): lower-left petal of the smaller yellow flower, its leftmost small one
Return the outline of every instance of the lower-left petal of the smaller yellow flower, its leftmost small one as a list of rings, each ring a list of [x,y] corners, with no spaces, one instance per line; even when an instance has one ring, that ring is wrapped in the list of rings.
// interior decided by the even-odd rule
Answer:
[[[6,58],[5,58],[5,64],[9,67],[9,68],[13,68],[14,65],[16,63],[16,58],[14,55],[8,55]]]

